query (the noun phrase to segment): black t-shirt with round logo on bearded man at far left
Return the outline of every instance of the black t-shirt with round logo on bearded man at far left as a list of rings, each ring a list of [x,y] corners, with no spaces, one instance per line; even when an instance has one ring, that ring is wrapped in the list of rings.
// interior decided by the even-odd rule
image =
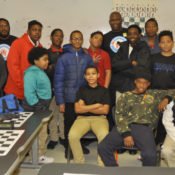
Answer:
[[[10,46],[15,39],[17,39],[17,37],[12,35],[10,35],[6,40],[0,39],[0,54],[3,56],[5,61],[7,60]]]

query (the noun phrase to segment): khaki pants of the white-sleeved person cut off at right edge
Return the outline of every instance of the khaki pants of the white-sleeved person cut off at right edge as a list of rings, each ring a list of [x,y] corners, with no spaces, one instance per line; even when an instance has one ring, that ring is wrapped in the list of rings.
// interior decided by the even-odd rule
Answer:
[[[175,167],[175,141],[167,134],[163,143],[162,155],[169,167]]]

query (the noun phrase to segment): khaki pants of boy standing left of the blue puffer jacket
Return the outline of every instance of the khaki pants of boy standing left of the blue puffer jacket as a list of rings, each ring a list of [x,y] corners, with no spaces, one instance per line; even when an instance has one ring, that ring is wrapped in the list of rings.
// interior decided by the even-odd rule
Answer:
[[[64,139],[64,114],[59,112],[58,106],[56,105],[55,96],[52,99],[52,102],[49,107],[50,110],[53,111],[53,117],[49,122],[49,130],[50,130],[50,140],[51,141],[58,141],[58,126],[57,123],[59,122],[59,129],[60,129],[60,137]]]

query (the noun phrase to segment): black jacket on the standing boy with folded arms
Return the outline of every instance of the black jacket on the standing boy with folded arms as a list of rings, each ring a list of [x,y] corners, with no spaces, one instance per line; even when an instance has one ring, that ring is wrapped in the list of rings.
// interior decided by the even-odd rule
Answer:
[[[149,69],[150,66],[150,51],[144,41],[137,41],[130,56],[128,55],[129,42],[126,41],[120,44],[119,51],[111,59],[111,87],[120,92],[130,91],[135,88],[134,78],[137,67]],[[132,61],[138,62],[138,66],[134,67]]]

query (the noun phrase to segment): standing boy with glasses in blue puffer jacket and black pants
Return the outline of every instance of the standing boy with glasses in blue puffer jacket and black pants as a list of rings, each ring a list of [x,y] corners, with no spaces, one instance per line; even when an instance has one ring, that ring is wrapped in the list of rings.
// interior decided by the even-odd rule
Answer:
[[[77,90],[85,84],[84,71],[93,65],[90,55],[82,49],[83,34],[75,30],[70,35],[70,43],[60,56],[55,70],[54,92],[59,111],[64,112],[65,157],[67,158],[68,133],[76,114],[74,102]]]

